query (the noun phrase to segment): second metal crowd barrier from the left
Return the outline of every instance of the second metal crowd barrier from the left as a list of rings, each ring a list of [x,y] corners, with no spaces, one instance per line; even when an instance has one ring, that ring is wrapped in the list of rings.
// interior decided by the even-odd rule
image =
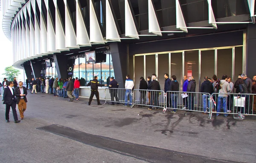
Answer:
[[[162,90],[133,90],[134,105],[140,107],[147,106],[149,110],[152,109],[164,109],[165,108],[165,96]]]

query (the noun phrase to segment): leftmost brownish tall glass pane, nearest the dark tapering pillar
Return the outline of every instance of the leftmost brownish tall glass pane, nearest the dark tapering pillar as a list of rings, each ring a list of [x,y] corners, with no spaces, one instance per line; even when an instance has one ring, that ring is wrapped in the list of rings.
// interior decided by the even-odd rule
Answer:
[[[135,56],[135,83],[134,83],[135,89],[140,88],[141,76],[144,76],[144,56]],[[148,76],[151,76],[151,75],[148,75]]]

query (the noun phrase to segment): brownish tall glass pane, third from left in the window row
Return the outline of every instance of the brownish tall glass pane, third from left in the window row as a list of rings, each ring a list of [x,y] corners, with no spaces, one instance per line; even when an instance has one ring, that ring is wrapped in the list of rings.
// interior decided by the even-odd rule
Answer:
[[[158,79],[161,90],[164,90],[164,74],[169,74],[169,53],[167,54],[158,54]],[[169,78],[171,76],[169,75]],[[170,78],[171,79],[171,78]]]

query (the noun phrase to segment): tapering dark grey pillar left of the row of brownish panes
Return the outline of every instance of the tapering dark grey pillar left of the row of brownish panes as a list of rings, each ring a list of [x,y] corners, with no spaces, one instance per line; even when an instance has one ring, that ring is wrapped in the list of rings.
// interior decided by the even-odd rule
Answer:
[[[128,72],[127,44],[111,42],[110,49],[116,81],[119,88],[125,88],[125,76]]]

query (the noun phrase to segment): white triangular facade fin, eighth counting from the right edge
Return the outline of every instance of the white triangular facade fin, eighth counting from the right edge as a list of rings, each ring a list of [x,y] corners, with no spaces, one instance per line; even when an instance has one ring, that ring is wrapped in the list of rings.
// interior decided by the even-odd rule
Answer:
[[[82,17],[79,0],[76,0],[76,44],[81,46],[91,46],[90,39]]]

